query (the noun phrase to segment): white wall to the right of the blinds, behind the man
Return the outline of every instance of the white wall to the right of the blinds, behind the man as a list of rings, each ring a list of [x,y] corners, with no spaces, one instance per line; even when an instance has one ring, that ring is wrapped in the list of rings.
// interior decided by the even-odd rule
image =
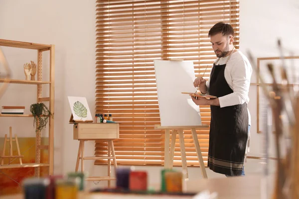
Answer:
[[[255,58],[279,57],[277,39],[281,39],[285,56],[299,55],[298,0],[240,0],[240,50]],[[256,83],[255,73],[251,78]],[[248,104],[251,112],[250,156],[261,156],[263,134],[257,133],[257,87],[251,86]],[[276,157],[274,137],[270,134],[270,156]]]

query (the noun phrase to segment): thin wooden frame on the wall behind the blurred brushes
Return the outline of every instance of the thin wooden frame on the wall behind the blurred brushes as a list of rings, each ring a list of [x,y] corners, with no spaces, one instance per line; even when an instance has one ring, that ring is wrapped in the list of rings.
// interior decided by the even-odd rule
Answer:
[[[288,57],[284,57],[284,59],[299,59],[299,56],[288,56]],[[262,60],[282,60],[282,58],[280,57],[262,57],[262,58],[258,58],[257,59],[257,71],[258,74],[256,75],[256,84],[250,84],[250,85],[256,85],[257,86],[257,133],[261,133],[261,129],[260,129],[260,80],[259,80],[259,75],[260,75],[260,62]],[[279,85],[279,84],[278,84]],[[288,86],[294,86],[297,84],[289,84]],[[266,86],[273,86],[273,84],[266,84]]]

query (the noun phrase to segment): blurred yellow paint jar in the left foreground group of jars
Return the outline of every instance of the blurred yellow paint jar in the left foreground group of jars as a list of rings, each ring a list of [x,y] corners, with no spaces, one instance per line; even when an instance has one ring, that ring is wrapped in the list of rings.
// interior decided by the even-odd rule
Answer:
[[[55,199],[77,199],[80,178],[56,181]]]

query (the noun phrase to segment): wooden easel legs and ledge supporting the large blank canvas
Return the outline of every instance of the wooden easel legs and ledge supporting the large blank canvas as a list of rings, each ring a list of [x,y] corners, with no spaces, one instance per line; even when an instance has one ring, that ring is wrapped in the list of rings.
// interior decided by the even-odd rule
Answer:
[[[187,160],[186,160],[186,151],[185,151],[185,141],[184,141],[184,135],[183,130],[191,130],[193,142],[195,145],[195,150],[197,153],[200,170],[203,178],[208,178],[207,173],[205,170],[203,158],[201,155],[201,150],[196,134],[196,129],[203,129],[207,128],[209,126],[207,125],[200,125],[200,126],[160,126],[155,125],[154,129],[158,130],[165,130],[165,154],[164,154],[164,168],[165,169],[171,169],[173,166],[173,157],[174,157],[174,147],[175,147],[175,137],[176,134],[179,135],[179,144],[180,144],[180,151],[181,151],[181,158],[182,158],[182,168],[187,172]],[[171,135],[171,145],[170,145],[170,152],[169,152],[169,140],[170,140],[170,130],[172,131]],[[186,178],[188,178],[188,172],[186,173]]]

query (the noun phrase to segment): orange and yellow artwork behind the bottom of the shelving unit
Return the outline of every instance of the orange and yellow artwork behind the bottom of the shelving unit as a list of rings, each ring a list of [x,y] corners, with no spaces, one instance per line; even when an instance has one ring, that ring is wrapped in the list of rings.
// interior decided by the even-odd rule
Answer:
[[[9,135],[8,135],[9,136]],[[34,163],[35,162],[35,137],[18,137],[20,153],[22,157],[22,163]],[[2,155],[2,149],[4,144],[4,138],[0,138],[0,155]],[[48,138],[41,138],[41,145],[48,145]],[[15,142],[12,142],[13,155],[17,154],[17,148]],[[9,142],[6,142],[5,155],[9,155]],[[48,162],[48,151],[41,150],[40,162]],[[8,158],[4,159],[4,165],[8,164]],[[10,158],[10,164],[19,164],[18,158]],[[40,177],[47,176],[49,167],[40,167]],[[34,177],[34,167],[28,168],[11,168],[0,169],[0,196],[21,193],[21,183],[24,178]]]

